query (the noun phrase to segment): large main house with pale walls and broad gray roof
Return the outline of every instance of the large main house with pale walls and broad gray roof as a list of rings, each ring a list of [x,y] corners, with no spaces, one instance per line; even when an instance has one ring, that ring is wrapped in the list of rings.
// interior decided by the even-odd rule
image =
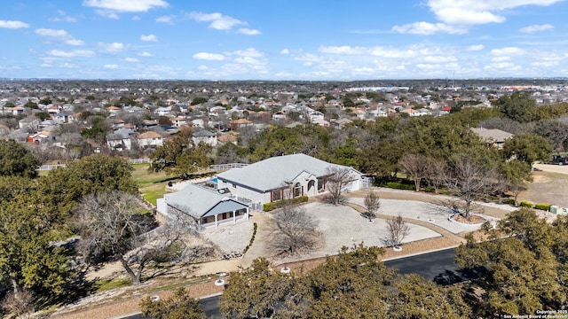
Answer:
[[[344,167],[315,159],[305,154],[293,154],[264,159],[247,167],[233,168],[217,175],[217,190],[225,190],[237,198],[252,203],[270,203],[284,198],[315,196],[326,192],[329,169],[347,168],[350,181],[347,191],[357,191],[362,174]]]

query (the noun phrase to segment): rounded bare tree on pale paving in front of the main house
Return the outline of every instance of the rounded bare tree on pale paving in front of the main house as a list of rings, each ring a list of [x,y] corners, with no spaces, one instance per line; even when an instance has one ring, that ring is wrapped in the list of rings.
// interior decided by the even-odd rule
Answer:
[[[298,206],[284,206],[274,214],[277,229],[272,232],[268,247],[278,254],[310,251],[318,245],[318,222]]]

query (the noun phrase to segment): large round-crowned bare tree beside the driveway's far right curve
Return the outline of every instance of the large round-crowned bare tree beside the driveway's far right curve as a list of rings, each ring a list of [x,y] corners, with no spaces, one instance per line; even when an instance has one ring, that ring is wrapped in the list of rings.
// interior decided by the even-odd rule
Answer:
[[[467,154],[458,154],[450,160],[444,183],[454,196],[463,201],[463,216],[469,219],[471,203],[495,186],[495,170],[477,162]]]

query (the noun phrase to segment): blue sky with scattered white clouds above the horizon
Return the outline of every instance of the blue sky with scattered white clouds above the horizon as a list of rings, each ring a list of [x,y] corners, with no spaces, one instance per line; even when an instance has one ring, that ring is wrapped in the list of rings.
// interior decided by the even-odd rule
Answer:
[[[566,0],[2,1],[0,77],[564,77],[567,12]]]

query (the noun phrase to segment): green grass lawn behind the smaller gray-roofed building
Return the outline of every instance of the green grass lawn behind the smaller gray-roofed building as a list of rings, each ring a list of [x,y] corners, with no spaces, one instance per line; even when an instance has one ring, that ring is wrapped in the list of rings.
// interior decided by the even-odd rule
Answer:
[[[166,193],[166,185],[168,182],[177,180],[177,176],[166,175],[165,172],[154,173],[148,170],[150,164],[132,165],[134,171],[132,178],[138,184],[138,190],[143,198],[156,205],[156,199],[162,198]]]

